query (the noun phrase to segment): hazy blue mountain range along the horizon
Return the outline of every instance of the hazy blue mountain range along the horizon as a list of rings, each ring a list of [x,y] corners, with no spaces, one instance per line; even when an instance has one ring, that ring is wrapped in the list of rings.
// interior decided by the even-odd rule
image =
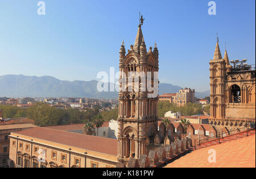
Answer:
[[[118,92],[99,92],[98,81],[62,81],[51,76],[0,76],[0,97],[88,97],[118,98]],[[159,84],[159,94],[176,93],[180,86]],[[197,98],[209,96],[210,91],[196,92]]]

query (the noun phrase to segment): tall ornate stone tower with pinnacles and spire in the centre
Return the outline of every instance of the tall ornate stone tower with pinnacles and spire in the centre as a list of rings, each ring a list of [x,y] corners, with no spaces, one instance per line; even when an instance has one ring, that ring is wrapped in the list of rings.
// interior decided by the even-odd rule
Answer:
[[[117,158],[123,163],[146,154],[157,132],[158,48],[155,44],[154,51],[152,47],[147,51],[141,26],[128,53],[123,42],[119,51]],[[153,85],[154,90],[148,88]]]

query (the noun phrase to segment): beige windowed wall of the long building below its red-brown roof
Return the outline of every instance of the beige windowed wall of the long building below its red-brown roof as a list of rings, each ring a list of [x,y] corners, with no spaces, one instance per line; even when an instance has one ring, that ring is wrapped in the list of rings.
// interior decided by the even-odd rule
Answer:
[[[15,145],[13,145],[13,141],[15,141]],[[22,143],[23,147],[20,148],[19,144]],[[26,145],[29,146],[29,149],[26,149]],[[32,146],[32,147],[31,147]],[[72,167],[75,164],[75,160],[80,161],[80,165],[78,167],[84,168],[90,168],[92,166],[92,163],[96,163],[97,167],[100,168],[105,168],[105,167],[114,167],[116,165],[116,156],[108,156],[105,155],[104,153],[94,153],[96,157],[90,156],[90,155],[85,155],[80,153],[80,151],[74,149],[72,147],[71,151],[68,151],[67,149],[63,149],[61,144],[56,144],[55,146],[52,146],[52,143],[47,143],[47,141],[44,144],[39,144],[36,143],[36,141],[27,141],[23,139],[18,139],[18,151],[17,151],[17,139],[12,138],[10,139],[10,156],[9,158],[14,161],[14,164],[16,164],[16,158],[17,158],[17,153],[20,152],[23,155],[23,166],[24,166],[24,155],[25,153],[28,154],[30,157],[30,167],[32,167],[32,160],[35,158],[36,159],[40,158],[40,153],[35,152],[35,148],[40,149],[45,149],[46,150],[46,167],[51,168],[51,166],[63,166],[64,168],[69,168]],[[85,150],[84,150],[85,151]],[[52,153],[56,152],[56,158],[52,157]],[[91,153],[93,155],[93,152]],[[61,156],[64,155],[66,156],[66,160],[63,161],[61,160]],[[32,160],[31,160],[32,157]],[[109,160],[108,160],[109,157]],[[105,159],[105,160],[104,160]],[[51,165],[54,164],[54,165]],[[40,167],[40,164],[39,164]]]

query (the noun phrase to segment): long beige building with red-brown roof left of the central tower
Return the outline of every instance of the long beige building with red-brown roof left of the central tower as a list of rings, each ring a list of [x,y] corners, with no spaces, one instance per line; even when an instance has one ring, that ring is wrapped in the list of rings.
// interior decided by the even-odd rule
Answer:
[[[9,158],[16,168],[108,168],[117,164],[117,140],[35,127],[10,134]]]

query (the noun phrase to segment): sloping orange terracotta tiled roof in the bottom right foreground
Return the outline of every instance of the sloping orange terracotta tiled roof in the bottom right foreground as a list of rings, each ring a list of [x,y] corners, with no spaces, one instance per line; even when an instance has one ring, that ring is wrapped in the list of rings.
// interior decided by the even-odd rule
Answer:
[[[216,151],[216,163],[208,162],[209,149]],[[193,151],[166,167],[255,168],[255,135]]]

